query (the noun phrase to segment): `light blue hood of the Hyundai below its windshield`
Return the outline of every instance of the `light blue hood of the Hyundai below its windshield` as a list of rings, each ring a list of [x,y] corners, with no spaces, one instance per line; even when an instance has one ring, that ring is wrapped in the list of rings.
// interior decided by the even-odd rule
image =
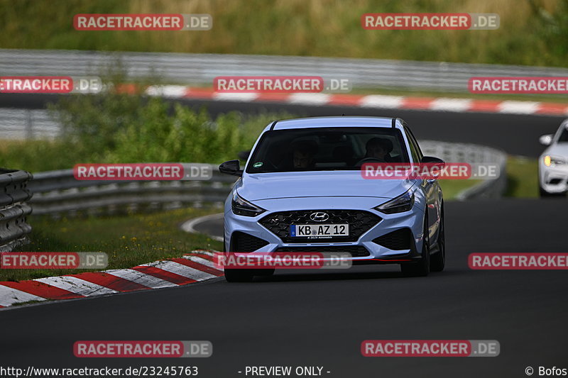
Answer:
[[[324,196],[391,199],[414,183],[409,179],[364,179],[359,171],[257,173],[244,174],[236,191],[248,201]]]

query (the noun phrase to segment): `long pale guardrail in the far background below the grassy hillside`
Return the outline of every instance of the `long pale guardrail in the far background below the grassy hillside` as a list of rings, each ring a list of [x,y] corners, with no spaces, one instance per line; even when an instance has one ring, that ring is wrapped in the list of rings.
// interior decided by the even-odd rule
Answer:
[[[568,76],[553,67],[473,65],[409,60],[170,52],[95,52],[0,49],[0,72],[16,75],[96,75],[120,59],[129,77],[155,77],[175,84],[212,84],[217,76],[314,75],[349,79],[353,87],[467,91],[472,76]]]

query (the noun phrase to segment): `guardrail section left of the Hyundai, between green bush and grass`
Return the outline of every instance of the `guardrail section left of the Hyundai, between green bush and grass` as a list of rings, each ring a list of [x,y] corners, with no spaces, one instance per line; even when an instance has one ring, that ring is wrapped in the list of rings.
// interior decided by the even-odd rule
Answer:
[[[209,165],[213,177],[207,181],[109,181],[76,180],[72,169],[40,172],[33,175],[34,214],[58,217],[111,215],[183,206],[220,206],[236,177]]]

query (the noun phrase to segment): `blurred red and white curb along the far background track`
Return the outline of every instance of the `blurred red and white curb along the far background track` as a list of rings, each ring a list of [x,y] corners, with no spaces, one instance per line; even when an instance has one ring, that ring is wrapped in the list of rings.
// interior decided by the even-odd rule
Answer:
[[[499,101],[478,99],[452,99],[445,97],[385,96],[379,94],[324,94],[324,93],[222,93],[208,88],[181,85],[150,86],[148,96],[172,99],[209,99],[213,101],[278,102],[299,105],[353,106],[374,109],[415,109],[430,111],[540,114],[567,116],[568,104],[537,101]]]

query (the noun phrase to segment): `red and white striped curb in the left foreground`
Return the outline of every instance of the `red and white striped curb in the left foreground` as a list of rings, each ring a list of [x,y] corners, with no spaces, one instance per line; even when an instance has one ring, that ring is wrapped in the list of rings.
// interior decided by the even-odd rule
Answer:
[[[223,275],[213,251],[195,250],[183,257],[138,265],[131,269],[84,272],[18,282],[0,282],[0,307],[28,301],[75,299],[127,291],[177,287]]]

